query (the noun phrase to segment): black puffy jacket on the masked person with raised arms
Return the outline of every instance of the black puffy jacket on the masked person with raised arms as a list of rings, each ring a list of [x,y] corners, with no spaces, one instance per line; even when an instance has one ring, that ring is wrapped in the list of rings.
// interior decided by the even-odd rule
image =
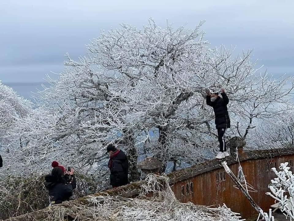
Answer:
[[[222,98],[218,96],[213,102],[210,100],[210,96],[206,96],[206,103],[207,105],[213,107],[216,128],[230,128],[231,121],[227,108],[229,99],[225,93],[221,93],[221,96]]]

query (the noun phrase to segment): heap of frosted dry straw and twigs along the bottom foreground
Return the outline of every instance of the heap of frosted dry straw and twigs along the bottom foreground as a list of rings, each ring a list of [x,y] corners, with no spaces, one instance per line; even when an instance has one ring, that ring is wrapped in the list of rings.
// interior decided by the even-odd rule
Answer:
[[[238,213],[225,205],[217,208],[180,203],[168,185],[166,176],[149,174],[137,198],[113,196],[89,196],[93,207],[77,205],[69,201],[65,205],[52,206],[47,211],[47,221],[235,221],[240,220]],[[70,208],[70,209],[69,209]]]

